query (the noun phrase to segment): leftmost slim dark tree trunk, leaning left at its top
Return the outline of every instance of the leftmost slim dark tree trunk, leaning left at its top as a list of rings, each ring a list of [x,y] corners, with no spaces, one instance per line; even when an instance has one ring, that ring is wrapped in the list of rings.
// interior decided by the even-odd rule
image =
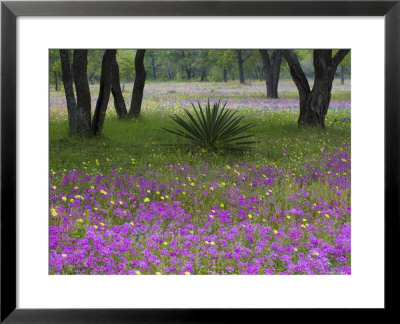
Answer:
[[[76,134],[76,100],[68,50],[60,50],[62,81],[67,100],[69,133]]]

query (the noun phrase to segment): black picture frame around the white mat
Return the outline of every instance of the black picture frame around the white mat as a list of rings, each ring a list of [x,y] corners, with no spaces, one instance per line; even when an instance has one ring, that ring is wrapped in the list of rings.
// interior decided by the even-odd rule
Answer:
[[[16,308],[16,19],[19,16],[384,16],[385,17],[385,310],[397,307],[400,229],[400,1],[102,1],[1,3],[1,322],[233,322],[265,309]],[[373,44],[371,44],[373,46]],[[368,55],[368,53],[366,53]],[[373,127],[373,125],[371,125]],[[373,261],[371,260],[371,264]],[[368,284],[368,283],[366,283]]]

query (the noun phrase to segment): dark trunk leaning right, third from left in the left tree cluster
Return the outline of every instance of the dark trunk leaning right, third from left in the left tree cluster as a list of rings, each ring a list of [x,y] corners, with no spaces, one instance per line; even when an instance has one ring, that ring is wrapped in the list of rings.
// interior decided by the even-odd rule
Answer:
[[[101,130],[103,129],[108,101],[110,99],[111,87],[113,85],[113,62],[116,60],[116,54],[116,50],[106,50],[103,55],[103,61],[101,63],[99,98],[97,99],[96,110],[94,111],[92,122],[93,135],[100,134]]]

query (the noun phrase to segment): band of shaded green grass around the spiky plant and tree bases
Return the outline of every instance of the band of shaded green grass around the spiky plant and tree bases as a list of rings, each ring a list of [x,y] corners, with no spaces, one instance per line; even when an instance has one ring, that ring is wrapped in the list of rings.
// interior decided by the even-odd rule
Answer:
[[[249,133],[254,134],[257,143],[251,151],[243,154],[215,154],[181,145],[185,143],[183,139],[161,129],[176,128],[166,113],[144,112],[139,120],[119,120],[115,114],[109,114],[102,135],[88,138],[69,136],[66,120],[51,119],[50,168],[100,169],[108,173],[110,166],[129,171],[137,170],[143,164],[161,167],[166,163],[186,162],[196,167],[203,160],[216,166],[233,161],[282,166],[288,163],[283,149],[290,152],[291,159],[296,159],[349,142],[349,123],[333,122],[348,115],[349,112],[329,113],[326,130],[299,129],[295,112],[270,112],[253,116],[256,118],[251,118],[251,121],[256,126]],[[243,122],[249,120],[245,118]]]

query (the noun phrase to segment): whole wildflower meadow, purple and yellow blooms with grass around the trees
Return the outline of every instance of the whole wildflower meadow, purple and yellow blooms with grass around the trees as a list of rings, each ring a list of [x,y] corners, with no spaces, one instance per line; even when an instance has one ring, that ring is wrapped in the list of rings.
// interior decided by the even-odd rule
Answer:
[[[110,103],[103,135],[87,139],[67,135],[52,91],[49,273],[350,274],[350,87],[335,83],[326,130],[298,129],[296,89],[279,91],[153,83],[139,120]],[[186,148],[161,129],[208,97],[256,123],[252,151]]]

